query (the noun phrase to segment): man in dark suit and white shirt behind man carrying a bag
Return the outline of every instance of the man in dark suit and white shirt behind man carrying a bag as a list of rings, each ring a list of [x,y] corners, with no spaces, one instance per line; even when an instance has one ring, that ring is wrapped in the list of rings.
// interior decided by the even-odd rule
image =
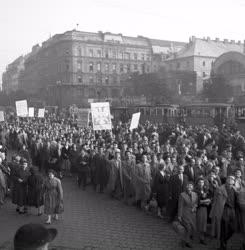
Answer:
[[[171,222],[177,215],[179,196],[184,192],[187,183],[188,177],[184,174],[184,166],[180,165],[178,167],[178,173],[171,176],[169,182],[169,201],[167,210]]]

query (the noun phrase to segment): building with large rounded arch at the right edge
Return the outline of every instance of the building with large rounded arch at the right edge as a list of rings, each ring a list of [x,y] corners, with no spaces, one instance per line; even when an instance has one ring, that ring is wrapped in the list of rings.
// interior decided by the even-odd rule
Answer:
[[[227,52],[219,56],[213,65],[212,78],[222,77],[232,86],[233,97],[245,95],[245,54]]]

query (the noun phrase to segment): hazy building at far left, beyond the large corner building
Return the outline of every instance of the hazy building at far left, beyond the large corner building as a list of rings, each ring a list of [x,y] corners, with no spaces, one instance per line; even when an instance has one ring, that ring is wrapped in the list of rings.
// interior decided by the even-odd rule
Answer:
[[[20,72],[24,69],[25,57],[20,56],[9,64],[2,75],[2,90],[6,93],[16,91],[19,88]]]

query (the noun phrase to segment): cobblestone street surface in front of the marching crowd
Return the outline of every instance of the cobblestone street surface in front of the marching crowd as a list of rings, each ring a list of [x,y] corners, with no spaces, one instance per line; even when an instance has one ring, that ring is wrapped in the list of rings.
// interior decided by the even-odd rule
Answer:
[[[88,188],[79,190],[73,178],[63,180],[65,213],[51,227],[58,229],[58,249],[180,249],[169,224],[135,207],[111,200]],[[10,201],[0,209],[0,243],[10,241],[16,229],[27,222],[45,221],[35,211],[19,215]],[[214,249],[195,244],[194,249]],[[231,249],[237,249],[235,247]]]

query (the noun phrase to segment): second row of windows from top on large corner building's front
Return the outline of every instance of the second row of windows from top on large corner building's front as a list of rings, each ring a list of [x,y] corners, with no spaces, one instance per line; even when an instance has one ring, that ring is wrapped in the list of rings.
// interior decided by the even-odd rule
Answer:
[[[67,64],[68,65],[68,64]],[[68,69],[69,69],[69,65],[68,65]],[[82,62],[78,62],[77,63],[77,70],[78,71],[82,71]],[[130,73],[130,72],[136,72],[136,71],[141,71],[142,73],[149,73],[150,72],[150,66],[149,65],[145,65],[145,64],[120,64],[119,68],[118,65],[116,63],[110,64],[109,63],[105,63],[104,64],[104,72],[109,73],[110,71],[113,73],[116,73],[119,70],[120,73]],[[102,64],[101,62],[98,62],[97,64],[90,62],[88,64],[88,72],[89,73],[94,73],[94,72],[102,72]]]

